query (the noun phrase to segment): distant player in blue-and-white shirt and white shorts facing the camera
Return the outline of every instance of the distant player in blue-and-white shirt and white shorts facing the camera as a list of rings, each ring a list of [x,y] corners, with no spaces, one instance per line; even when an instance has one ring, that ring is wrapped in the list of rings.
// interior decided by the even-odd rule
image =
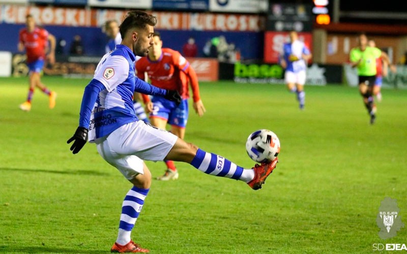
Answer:
[[[280,65],[285,69],[284,80],[289,91],[297,93],[300,109],[304,109],[307,61],[311,59],[312,54],[304,42],[298,40],[296,31],[289,33],[289,39],[290,42],[283,46]]]

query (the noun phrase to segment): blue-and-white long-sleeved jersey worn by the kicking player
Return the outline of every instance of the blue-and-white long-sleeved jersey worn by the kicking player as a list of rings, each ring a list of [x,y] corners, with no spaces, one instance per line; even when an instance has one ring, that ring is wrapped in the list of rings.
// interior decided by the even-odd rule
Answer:
[[[89,126],[90,142],[112,133],[126,123],[138,120],[133,107],[134,91],[165,96],[166,90],[135,76],[134,60],[134,53],[124,45],[117,45],[115,50],[105,54],[100,60],[94,78],[88,85],[99,91],[96,102],[87,98],[92,96],[86,95],[85,88],[79,120],[79,126]],[[92,103],[94,104],[91,105]],[[89,116],[90,112],[86,111],[92,108],[92,115]]]

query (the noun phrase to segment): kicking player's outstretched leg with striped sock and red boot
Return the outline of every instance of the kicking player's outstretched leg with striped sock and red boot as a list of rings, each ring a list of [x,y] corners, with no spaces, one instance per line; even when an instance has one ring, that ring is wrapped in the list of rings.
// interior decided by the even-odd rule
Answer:
[[[166,159],[189,163],[209,175],[244,181],[253,189],[261,188],[278,162],[276,158],[273,162],[244,169],[220,155],[203,151],[182,139],[177,140]]]

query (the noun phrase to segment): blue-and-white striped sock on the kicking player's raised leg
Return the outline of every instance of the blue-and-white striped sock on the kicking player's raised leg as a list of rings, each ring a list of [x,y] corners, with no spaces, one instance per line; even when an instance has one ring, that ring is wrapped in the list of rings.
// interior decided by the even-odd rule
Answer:
[[[198,149],[191,165],[205,174],[250,182],[254,178],[252,169],[244,169],[226,158]]]

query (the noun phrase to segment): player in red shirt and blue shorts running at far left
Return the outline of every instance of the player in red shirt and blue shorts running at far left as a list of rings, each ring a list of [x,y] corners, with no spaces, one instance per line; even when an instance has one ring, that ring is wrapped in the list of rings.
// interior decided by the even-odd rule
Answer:
[[[48,33],[47,30],[40,26],[36,26],[34,17],[31,14],[26,16],[26,27],[20,30],[18,39],[18,50],[24,51],[27,55],[27,67],[29,69],[30,88],[28,89],[27,100],[20,105],[20,109],[24,111],[31,110],[31,100],[33,98],[34,89],[40,88],[49,97],[49,108],[55,107],[56,92],[50,91],[43,83],[41,83],[41,71],[44,67],[46,52],[48,51],[48,61],[52,64],[55,61],[55,37]],[[48,46],[48,41],[50,46]],[[48,50],[49,49],[49,50]]]

